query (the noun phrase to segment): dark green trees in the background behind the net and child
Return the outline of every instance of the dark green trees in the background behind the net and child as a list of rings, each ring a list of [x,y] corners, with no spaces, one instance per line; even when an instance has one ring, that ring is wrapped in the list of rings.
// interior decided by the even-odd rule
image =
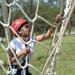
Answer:
[[[11,0],[7,0],[8,3],[12,2]],[[64,1],[64,0],[63,0]],[[17,2],[21,5],[23,10],[27,13],[27,15],[30,18],[34,18],[35,16],[35,10],[36,10],[36,3],[37,0],[17,0]],[[65,3],[65,1],[64,1]],[[40,6],[39,6],[39,12],[38,15],[44,17],[51,23],[54,22],[55,17],[58,13],[60,13],[60,0],[48,0],[45,2],[45,0],[40,0]],[[3,21],[3,15],[2,15],[2,7],[0,3],[0,20]],[[11,22],[17,18],[25,18],[24,15],[21,13],[19,8],[16,6],[12,8],[12,15],[11,15]],[[75,14],[72,16],[71,24],[74,26],[75,23]],[[45,22],[41,21],[40,19],[37,19],[35,23],[34,32],[35,33],[43,33],[45,32],[50,26],[46,25]],[[0,25],[1,33],[4,33],[3,27]],[[4,36],[4,35],[2,35]]]

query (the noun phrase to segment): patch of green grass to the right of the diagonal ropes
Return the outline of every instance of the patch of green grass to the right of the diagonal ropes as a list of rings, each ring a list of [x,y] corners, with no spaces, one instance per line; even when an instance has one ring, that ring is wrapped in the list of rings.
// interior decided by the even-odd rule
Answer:
[[[75,36],[66,36],[61,44],[57,75],[75,75]],[[60,70],[60,71],[59,71]]]

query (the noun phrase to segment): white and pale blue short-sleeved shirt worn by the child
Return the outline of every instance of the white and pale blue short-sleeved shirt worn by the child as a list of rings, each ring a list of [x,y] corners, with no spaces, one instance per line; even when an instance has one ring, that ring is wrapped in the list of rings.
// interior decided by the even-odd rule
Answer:
[[[36,37],[33,36],[32,37],[32,40],[35,40]],[[10,42],[10,46],[15,50],[15,54],[18,54],[21,50],[23,50],[26,46],[25,44],[19,39],[19,38],[14,38],[11,42]],[[34,46],[35,46],[35,42],[31,42],[29,44],[29,48],[30,48],[30,53],[29,53],[29,63],[31,62],[32,60],[32,56],[33,56],[33,53],[34,53]],[[24,55],[22,55],[18,60],[20,62],[20,64],[23,63],[23,57]],[[17,62],[13,63],[13,64],[18,64]]]

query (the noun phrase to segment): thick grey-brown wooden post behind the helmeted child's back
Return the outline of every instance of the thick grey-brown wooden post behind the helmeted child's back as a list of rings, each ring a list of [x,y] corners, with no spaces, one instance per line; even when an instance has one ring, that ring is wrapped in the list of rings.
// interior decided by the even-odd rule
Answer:
[[[6,0],[7,1],[7,0]],[[7,24],[8,23],[8,14],[9,14],[9,9],[8,7],[5,5],[5,0],[2,0],[2,11],[3,11],[3,20],[4,20],[4,23]],[[8,39],[9,39],[9,42],[11,41],[11,31],[10,29],[7,27],[5,28],[5,34],[8,34],[8,38],[7,38],[7,42],[8,42]],[[6,34],[6,35],[7,35]]]

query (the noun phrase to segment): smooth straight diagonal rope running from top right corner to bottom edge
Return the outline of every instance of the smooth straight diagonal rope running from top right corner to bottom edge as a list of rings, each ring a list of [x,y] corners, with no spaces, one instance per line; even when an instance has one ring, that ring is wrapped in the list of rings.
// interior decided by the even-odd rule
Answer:
[[[75,2],[75,1],[74,1]],[[55,50],[59,50],[59,47],[60,47],[60,44],[61,44],[61,41],[62,41],[62,37],[63,37],[63,35],[64,35],[64,32],[65,32],[65,29],[66,29],[66,27],[67,27],[67,24],[68,24],[68,21],[70,20],[70,17],[71,17],[71,14],[72,14],[72,12],[73,12],[73,9],[74,9],[74,7],[75,7],[75,3],[73,3],[73,6],[71,7],[71,9],[70,10],[68,10],[68,13],[66,13],[66,16],[68,16],[67,18],[67,21],[64,21],[64,26],[63,26],[63,30],[62,31],[60,31],[60,33],[59,34],[61,34],[60,36],[59,36],[59,39],[57,40],[57,42],[56,42],[56,45],[54,46],[54,48],[53,48],[53,50],[52,50],[52,52],[51,52],[51,54],[50,54],[50,56],[48,57],[48,59],[47,59],[47,61],[46,61],[46,63],[45,63],[45,66],[44,66],[44,68],[43,68],[43,70],[42,70],[42,73],[41,73],[41,75],[43,75],[44,74],[44,71],[46,70],[46,67],[47,67],[47,65],[48,65],[48,63],[49,63],[49,60],[51,59],[51,57],[52,57],[52,55],[54,54],[54,52],[55,52]],[[67,8],[68,9],[68,8]],[[69,14],[69,15],[67,15],[67,14]],[[65,15],[65,14],[64,14]],[[65,20],[66,20],[66,16],[65,16]],[[50,75],[52,74],[52,72],[50,73]]]

